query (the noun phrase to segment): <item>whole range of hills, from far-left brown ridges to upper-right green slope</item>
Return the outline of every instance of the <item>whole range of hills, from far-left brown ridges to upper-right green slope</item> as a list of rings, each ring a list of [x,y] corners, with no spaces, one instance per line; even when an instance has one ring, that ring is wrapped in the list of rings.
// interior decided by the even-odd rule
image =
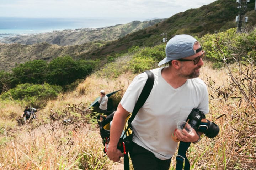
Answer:
[[[256,25],[254,3],[248,3],[246,11],[246,16],[249,17],[246,23],[248,28]],[[132,46],[154,46],[161,43],[163,33],[166,33],[167,39],[176,34],[200,37],[207,33],[234,28],[237,15],[236,1],[218,0],[162,20],[133,21],[99,29],[85,28],[16,37],[9,39],[10,42],[16,43],[0,45],[0,69],[10,70],[15,63],[34,59],[50,61],[65,55],[73,58],[101,59],[104,63],[107,62],[107,56],[126,52]]]

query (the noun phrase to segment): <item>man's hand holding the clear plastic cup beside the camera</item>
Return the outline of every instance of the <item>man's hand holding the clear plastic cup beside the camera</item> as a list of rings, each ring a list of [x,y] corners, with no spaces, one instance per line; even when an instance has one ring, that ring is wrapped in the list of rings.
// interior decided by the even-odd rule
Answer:
[[[182,142],[194,142],[199,139],[199,136],[193,128],[190,133],[188,133],[185,129],[182,129],[182,132],[180,130],[176,130],[175,135]]]

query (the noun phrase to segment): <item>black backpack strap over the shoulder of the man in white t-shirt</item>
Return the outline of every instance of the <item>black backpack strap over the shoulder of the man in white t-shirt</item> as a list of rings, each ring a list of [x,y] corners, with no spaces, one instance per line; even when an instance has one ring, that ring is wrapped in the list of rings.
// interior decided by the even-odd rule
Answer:
[[[142,89],[142,92],[138,98],[138,101],[136,102],[135,106],[134,106],[134,109],[133,109],[133,112],[132,112],[132,115],[131,117],[128,119],[128,126],[130,126],[130,124],[132,123],[133,119],[135,118],[137,112],[139,111],[139,109],[143,106],[143,104],[146,102],[151,90],[152,90],[152,87],[154,85],[154,81],[155,81],[155,77],[154,77],[154,74],[147,70],[145,71],[148,75],[148,79]],[[128,130],[128,128],[126,129]],[[124,134],[126,134],[126,132],[124,132]],[[129,156],[128,156],[128,153],[127,154],[124,154],[124,170],[129,170],[130,169],[130,165],[129,165]]]

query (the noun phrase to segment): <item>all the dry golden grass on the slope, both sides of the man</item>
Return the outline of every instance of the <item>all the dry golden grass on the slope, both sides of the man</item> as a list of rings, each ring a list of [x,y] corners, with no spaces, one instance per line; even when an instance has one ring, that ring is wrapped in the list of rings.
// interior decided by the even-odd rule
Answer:
[[[238,78],[240,70],[244,73],[242,77],[255,75],[255,68],[247,74],[246,66],[228,67]],[[250,105],[226,68],[213,70],[210,63],[201,68],[200,78],[208,86],[210,99],[207,119],[217,123],[220,132],[214,139],[203,137],[198,145],[191,145],[187,154],[191,169],[256,169],[254,93],[247,92]],[[93,74],[75,91],[49,101],[46,108],[37,113],[37,120],[23,126],[8,120],[8,116],[21,115],[22,103],[1,102],[0,125],[4,128],[0,136],[0,169],[112,169],[114,163],[103,157],[99,130],[87,107],[98,97],[100,89],[107,92],[122,89],[114,97],[122,96],[134,76],[126,73],[117,79],[108,79]],[[252,86],[255,90],[255,82],[248,79],[240,84],[242,82],[244,87]],[[73,119],[64,123],[68,118]],[[175,159],[171,166],[175,167]]]

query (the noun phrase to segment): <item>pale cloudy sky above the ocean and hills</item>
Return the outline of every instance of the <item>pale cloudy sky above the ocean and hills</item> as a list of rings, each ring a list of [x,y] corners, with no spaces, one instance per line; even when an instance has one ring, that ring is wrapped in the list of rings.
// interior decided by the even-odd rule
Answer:
[[[0,17],[169,18],[216,0],[0,0]]]

